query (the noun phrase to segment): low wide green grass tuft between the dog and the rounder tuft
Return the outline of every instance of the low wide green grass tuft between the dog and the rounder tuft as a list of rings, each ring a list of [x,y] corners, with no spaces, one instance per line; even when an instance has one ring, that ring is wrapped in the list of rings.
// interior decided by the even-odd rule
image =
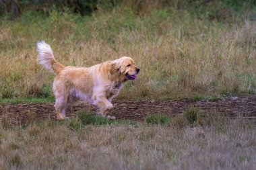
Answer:
[[[160,114],[150,114],[146,116],[145,121],[147,124],[169,124],[170,118]]]

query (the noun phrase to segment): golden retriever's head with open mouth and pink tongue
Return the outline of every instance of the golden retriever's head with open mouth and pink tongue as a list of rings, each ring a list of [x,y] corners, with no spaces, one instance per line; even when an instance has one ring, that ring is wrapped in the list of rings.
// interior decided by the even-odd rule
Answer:
[[[111,73],[117,75],[119,81],[134,80],[136,79],[139,68],[135,66],[132,58],[123,56],[117,60],[110,62]]]

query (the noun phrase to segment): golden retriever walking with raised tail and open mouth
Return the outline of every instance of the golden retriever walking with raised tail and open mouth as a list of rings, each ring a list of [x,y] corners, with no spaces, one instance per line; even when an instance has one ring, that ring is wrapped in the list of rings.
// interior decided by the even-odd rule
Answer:
[[[109,115],[113,110],[111,101],[123,83],[136,79],[139,73],[133,59],[127,56],[86,68],[61,65],[55,60],[51,46],[44,41],[37,43],[37,51],[40,65],[55,75],[53,93],[57,120],[66,119],[67,104],[79,99],[95,105],[101,116],[116,119]]]

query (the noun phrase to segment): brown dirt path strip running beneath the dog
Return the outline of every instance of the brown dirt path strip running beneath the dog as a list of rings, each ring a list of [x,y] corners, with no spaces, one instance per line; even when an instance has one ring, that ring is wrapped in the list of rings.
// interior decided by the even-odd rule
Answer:
[[[148,114],[164,114],[176,116],[187,108],[197,106],[206,113],[220,113],[226,116],[256,116],[256,95],[228,97],[219,101],[192,101],[189,99],[173,101],[116,101],[113,115],[119,119],[143,120]],[[95,108],[86,103],[74,103],[67,108],[67,116],[73,118],[82,111],[95,112]],[[44,104],[6,104],[0,105],[0,121],[7,120],[11,124],[24,124],[28,121],[55,119],[53,103]]]

